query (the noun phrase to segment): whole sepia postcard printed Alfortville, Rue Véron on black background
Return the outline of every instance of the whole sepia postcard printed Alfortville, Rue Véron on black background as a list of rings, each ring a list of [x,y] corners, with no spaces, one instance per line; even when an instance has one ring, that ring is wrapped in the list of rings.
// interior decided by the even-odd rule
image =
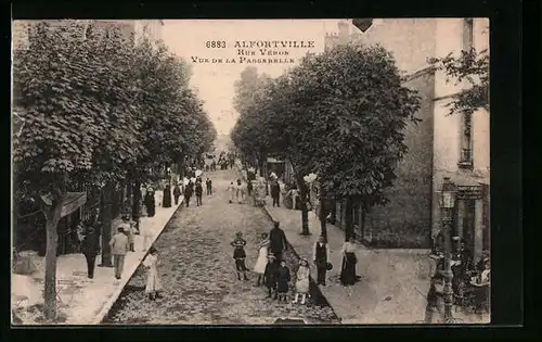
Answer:
[[[12,27],[12,325],[490,322],[489,20]]]

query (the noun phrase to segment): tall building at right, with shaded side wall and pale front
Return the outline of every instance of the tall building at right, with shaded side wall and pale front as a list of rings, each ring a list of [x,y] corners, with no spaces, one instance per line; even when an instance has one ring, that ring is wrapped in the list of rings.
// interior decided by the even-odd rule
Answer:
[[[350,22],[338,23],[327,34],[325,47],[363,43],[380,45],[390,51],[404,77],[404,86],[417,90],[418,125],[409,125],[409,152],[398,165],[398,179],[389,189],[390,203],[373,207],[362,219],[354,205],[358,235],[373,245],[428,248],[440,231],[439,190],[450,177],[459,190],[454,235],[466,240],[479,257],[489,250],[489,113],[472,117],[449,115],[447,103],[467,85],[446,81],[446,75],[428,64],[475,47],[489,48],[489,22],[485,18],[384,18],[359,30]],[[344,203],[333,213],[344,225]],[[362,223],[363,220],[363,223]]]

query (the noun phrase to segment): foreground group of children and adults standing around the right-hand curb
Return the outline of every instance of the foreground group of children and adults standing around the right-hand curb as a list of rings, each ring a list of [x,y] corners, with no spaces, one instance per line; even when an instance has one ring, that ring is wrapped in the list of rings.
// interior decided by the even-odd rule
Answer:
[[[231,242],[233,250],[233,259],[235,261],[235,270],[238,280],[249,280],[246,267],[246,240],[240,231]],[[253,268],[257,275],[255,287],[264,286],[268,291],[268,297],[287,302],[289,293],[289,282],[292,281],[291,270],[286,266],[283,253],[287,249],[287,241],[284,230],[280,228],[280,223],[275,221],[269,233],[261,235],[261,241],[258,245],[258,258]],[[354,284],[360,277],[356,275],[356,264],[358,262],[354,253],[354,243],[349,239],[343,246],[343,265],[340,271],[340,282],[345,287]],[[312,261],[317,268],[317,286],[325,286],[326,273],[332,269],[330,248],[324,237],[320,237],[314,244]],[[293,303],[305,304],[310,292],[310,266],[307,258],[300,258],[296,270],[295,297]],[[243,278],[242,278],[243,277]]]

